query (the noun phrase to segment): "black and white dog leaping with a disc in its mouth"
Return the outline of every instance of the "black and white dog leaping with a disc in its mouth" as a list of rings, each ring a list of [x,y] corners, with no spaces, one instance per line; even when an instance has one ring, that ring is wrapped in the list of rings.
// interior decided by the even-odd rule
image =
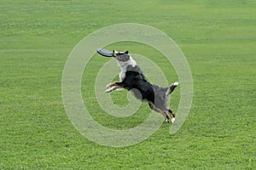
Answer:
[[[166,107],[167,96],[172,94],[178,82],[172,83],[168,88],[160,88],[159,86],[149,83],[143,76],[143,72],[132,59],[131,55],[126,52],[117,52],[113,50],[113,57],[121,69],[119,73],[119,82],[112,82],[107,85],[107,93],[119,88],[125,88],[141,101],[147,101],[149,107],[165,116],[165,121],[169,122],[168,113],[171,116],[172,123],[175,121],[175,116],[170,109]]]

